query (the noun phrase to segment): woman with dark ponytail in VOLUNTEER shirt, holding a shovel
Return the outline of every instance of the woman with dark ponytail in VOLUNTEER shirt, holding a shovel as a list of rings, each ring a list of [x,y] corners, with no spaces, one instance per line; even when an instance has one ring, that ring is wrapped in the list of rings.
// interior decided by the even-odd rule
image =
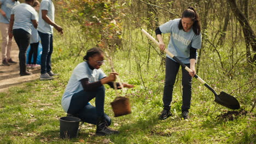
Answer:
[[[199,22],[199,15],[197,15],[193,7],[189,7],[183,11],[180,19],[174,19],[164,23],[160,27],[156,28],[155,33],[159,40],[159,48],[161,51],[165,50],[165,44],[161,34],[171,33],[167,48],[168,51],[193,71],[188,73],[187,70],[182,67],[182,116],[184,119],[187,119],[191,101],[192,77],[196,74],[196,50],[201,49],[201,26]],[[173,85],[176,80],[179,66],[179,63],[167,55],[165,87],[162,98],[164,110],[162,110],[159,119],[166,119],[172,115],[170,109]]]

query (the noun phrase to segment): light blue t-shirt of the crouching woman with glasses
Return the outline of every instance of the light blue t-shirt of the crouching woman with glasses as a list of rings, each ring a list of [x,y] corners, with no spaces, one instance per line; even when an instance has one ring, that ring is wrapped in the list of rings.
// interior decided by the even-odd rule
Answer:
[[[71,75],[65,92],[62,96],[61,105],[63,110],[67,112],[73,94],[84,89],[80,80],[88,78],[89,83],[91,83],[99,81],[103,77],[106,77],[106,74],[104,74],[101,69],[91,70],[87,62],[79,63],[73,70],[73,74]]]

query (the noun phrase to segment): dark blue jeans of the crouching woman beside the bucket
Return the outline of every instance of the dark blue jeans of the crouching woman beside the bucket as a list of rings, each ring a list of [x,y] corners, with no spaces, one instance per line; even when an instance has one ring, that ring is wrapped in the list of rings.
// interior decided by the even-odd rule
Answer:
[[[95,105],[88,105],[88,102],[95,98]],[[105,117],[108,125],[111,119],[104,113],[105,88],[101,86],[95,92],[80,91],[72,96],[67,113],[78,115],[83,122],[96,124],[97,119]]]

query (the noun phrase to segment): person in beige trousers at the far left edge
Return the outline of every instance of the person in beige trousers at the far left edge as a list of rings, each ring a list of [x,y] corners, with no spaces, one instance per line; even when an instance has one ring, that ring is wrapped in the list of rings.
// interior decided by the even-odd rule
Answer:
[[[10,66],[10,64],[16,64],[10,57],[11,43],[13,37],[9,37],[9,22],[11,9],[20,2],[17,0],[0,0],[0,31],[2,34],[2,64]]]

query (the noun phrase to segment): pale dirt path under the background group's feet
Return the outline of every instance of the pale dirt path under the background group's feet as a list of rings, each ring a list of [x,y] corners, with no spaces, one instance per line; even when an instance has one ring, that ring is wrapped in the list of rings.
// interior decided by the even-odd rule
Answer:
[[[1,43],[1,41],[0,41]],[[1,51],[0,51],[1,53]],[[2,55],[2,53],[1,53]],[[13,46],[11,50],[11,58],[18,62],[18,64],[10,65],[10,66],[3,66],[2,65],[2,56],[1,63],[0,63],[0,92],[8,91],[9,87],[18,86],[21,83],[29,82],[33,80],[39,79],[40,76],[40,68],[36,69],[28,69],[33,73],[33,75],[28,76],[20,76],[20,68],[19,68],[19,48],[13,41]]]

